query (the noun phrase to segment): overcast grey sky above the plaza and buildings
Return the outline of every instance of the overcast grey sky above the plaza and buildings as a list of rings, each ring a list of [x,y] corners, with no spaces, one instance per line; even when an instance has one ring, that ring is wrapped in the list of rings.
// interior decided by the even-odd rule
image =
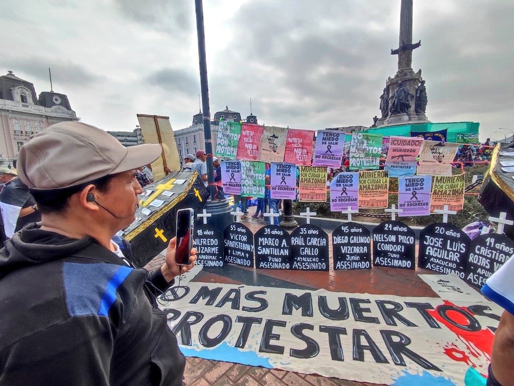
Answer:
[[[68,95],[83,121],[131,131],[136,114],[198,112],[193,0],[0,0],[0,73]],[[318,130],[371,125],[397,70],[400,0],[204,0],[211,116]],[[514,130],[514,2],[414,0],[412,68],[432,122]],[[495,132],[501,133],[495,133]]]

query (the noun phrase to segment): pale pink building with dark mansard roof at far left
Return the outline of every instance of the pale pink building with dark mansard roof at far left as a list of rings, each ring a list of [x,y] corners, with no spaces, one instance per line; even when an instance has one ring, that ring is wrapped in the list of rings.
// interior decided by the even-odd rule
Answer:
[[[32,134],[79,119],[66,95],[43,91],[38,98],[32,83],[8,71],[0,77],[0,166],[11,163]]]

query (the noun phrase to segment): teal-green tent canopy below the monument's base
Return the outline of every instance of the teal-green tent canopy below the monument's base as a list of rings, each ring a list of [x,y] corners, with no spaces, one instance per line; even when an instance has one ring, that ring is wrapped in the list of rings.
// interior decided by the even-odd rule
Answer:
[[[438,132],[448,129],[447,142],[457,142],[457,133],[478,134],[480,123],[478,122],[442,122],[442,123],[418,123],[403,124],[397,126],[381,126],[364,130],[362,133],[382,134],[384,137],[399,136],[410,137],[411,132]]]

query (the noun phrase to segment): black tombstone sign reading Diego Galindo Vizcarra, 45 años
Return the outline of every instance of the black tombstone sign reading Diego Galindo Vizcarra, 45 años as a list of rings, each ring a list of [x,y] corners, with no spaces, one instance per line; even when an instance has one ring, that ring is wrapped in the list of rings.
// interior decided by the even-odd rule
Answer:
[[[371,236],[368,228],[344,223],[332,232],[334,269],[371,269]]]

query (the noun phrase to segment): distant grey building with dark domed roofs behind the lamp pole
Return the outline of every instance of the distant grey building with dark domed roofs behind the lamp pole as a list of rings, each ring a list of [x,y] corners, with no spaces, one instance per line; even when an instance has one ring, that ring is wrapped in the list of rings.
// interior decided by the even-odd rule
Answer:
[[[216,152],[216,140],[218,136],[219,120],[240,122],[241,113],[230,111],[228,106],[225,110],[218,111],[214,114],[214,119],[211,121],[211,138],[212,138],[212,152]],[[250,115],[243,121],[251,124],[258,124],[257,117],[250,112]],[[180,161],[186,154],[196,154],[197,150],[205,150],[205,135],[204,135],[204,115],[201,111],[193,116],[193,123],[191,126],[174,131],[175,141],[177,142],[178,155]]]

